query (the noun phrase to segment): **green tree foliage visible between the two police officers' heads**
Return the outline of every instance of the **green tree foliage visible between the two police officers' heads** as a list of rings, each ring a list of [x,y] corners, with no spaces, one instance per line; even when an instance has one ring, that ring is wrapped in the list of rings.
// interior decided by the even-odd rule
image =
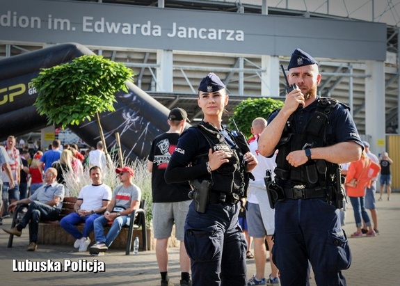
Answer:
[[[268,118],[272,111],[280,109],[283,102],[273,100],[270,97],[261,97],[256,99],[248,98],[243,100],[234,108],[234,115],[230,118],[230,128],[236,130],[232,120],[236,123],[239,131],[243,132],[248,138],[251,136],[251,123],[257,117]]]

